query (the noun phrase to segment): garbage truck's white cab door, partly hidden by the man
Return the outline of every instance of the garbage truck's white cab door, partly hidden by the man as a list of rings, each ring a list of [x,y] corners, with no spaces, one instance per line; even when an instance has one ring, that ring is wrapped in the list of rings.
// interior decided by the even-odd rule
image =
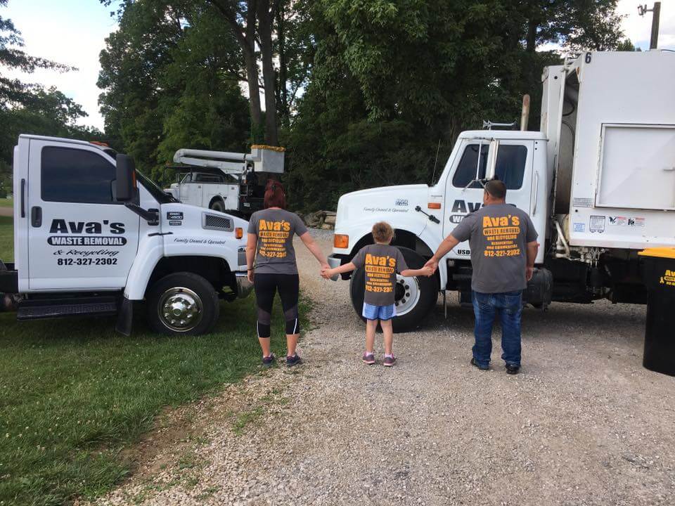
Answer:
[[[533,153],[534,141],[463,141],[461,155],[446,182],[443,235],[452,233],[464,216],[482,206],[484,190],[476,179],[499,178],[506,184],[506,203],[530,212]],[[468,242],[458,245],[449,254],[449,258],[454,259],[469,256]]]

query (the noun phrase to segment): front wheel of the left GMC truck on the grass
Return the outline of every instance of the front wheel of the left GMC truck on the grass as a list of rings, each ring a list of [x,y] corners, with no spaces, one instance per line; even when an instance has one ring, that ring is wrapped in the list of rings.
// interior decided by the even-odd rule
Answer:
[[[158,280],[146,296],[148,323],[167,335],[200,335],[211,330],[220,306],[216,290],[198,274],[180,272]]]

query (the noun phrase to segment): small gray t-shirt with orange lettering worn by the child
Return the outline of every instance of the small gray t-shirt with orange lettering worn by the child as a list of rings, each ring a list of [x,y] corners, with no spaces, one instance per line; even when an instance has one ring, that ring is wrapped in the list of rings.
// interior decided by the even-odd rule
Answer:
[[[364,302],[373,306],[394,304],[396,273],[408,266],[401,250],[390,245],[368,245],[359,249],[352,259],[356,268],[366,269],[366,293]]]

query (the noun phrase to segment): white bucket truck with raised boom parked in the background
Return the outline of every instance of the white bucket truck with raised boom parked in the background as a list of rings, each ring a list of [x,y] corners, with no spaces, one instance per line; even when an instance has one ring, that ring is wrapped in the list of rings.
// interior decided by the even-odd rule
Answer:
[[[283,174],[284,149],[252,145],[251,153],[180,149],[174,155],[176,183],[166,188],[185,204],[250,216],[263,208],[265,183]]]

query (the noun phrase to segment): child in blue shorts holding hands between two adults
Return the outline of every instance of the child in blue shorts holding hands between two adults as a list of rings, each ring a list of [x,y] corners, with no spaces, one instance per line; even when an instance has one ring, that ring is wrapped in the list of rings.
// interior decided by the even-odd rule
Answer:
[[[380,221],[373,225],[373,239],[375,244],[362,247],[349,264],[340,267],[325,269],[321,272],[323,278],[331,278],[335,275],[354,271],[356,268],[366,269],[366,293],[364,294],[364,312],[366,318],[366,353],[363,361],[368,365],[375,363],[373,346],[375,344],[375,329],[378,321],[385,335],[385,361],[384,364],[391,367],[396,363],[396,357],[392,353],[394,331],[392,330],[392,318],[396,316],[394,305],[394,292],[396,287],[396,273],[402,276],[430,276],[432,268],[409,269],[401,254],[401,250],[390,245],[394,231],[389,223]]]

